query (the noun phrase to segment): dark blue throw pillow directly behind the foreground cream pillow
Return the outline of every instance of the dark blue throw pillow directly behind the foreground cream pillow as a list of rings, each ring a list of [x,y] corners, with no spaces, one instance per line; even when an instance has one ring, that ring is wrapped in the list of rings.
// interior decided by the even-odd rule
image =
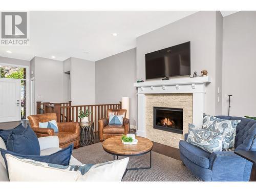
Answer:
[[[1,155],[3,156],[5,160],[5,166],[6,170],[8,171],[8,164],[5,155],[6,154],[11,154],[13,156],[16,156],[18,158],[22,159],[31,159],[34,161],[40,161],[40,162],[45,162],[45,163],[51,163],[51,164],[58,164],[58,165],[63,165],[63,166],[68,166],[70,162],[70,158],[72,155],[72,150],[73,150],[73,144],[69,145],[66,148],[63,148],[62,150],[53,153],[51,155],[45,155],[45,156],[40,156],[40,155],[20,155],[11,151],[7,151],[4,149],[0,149]]]

